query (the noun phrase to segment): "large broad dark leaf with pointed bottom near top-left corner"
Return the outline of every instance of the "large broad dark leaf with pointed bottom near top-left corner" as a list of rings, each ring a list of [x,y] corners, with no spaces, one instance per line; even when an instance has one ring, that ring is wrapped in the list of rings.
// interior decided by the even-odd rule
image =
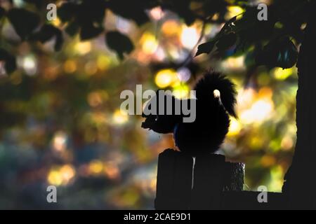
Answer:
[[[39,16],[23,8],[13,8],[9,10],[8,20],[22,41],[39,26]]]

